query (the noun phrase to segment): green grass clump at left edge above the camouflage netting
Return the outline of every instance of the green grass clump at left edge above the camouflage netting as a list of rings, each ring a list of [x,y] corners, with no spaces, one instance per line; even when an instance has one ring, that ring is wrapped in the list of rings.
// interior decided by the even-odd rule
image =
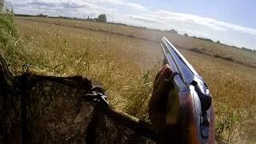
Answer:
[[[14,22],[14,13],[12,10],[1,10],[0,14],[0,51],[6,58],[7,64],[14,74],[20,74],[22,66],[29,64],[30,66],[47,65],[45,58],[33,50],[25,50],[25,46],[30,46],[30,37],[20,37],[17,26]]]

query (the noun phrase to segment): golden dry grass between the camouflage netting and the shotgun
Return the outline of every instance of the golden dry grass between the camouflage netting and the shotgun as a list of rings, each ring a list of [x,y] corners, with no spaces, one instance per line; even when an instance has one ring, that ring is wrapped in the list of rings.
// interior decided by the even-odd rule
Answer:
[[[147,110],[142,107],[146,107],[150,98],[160,61],[155,59],[158,56],[153,56],[154,59],[150,59],[152,54],[146,56],[148,51],[141,42],[118,37],[110,42],[110,34],[38,22],[18,23],[20,35],[26,38],[22,40],[26,42],[23,49],[42,61],[27,62],[31,70],[57,76],[83,75],[101,85],[118,110],[138,118],[146,115]],[[143,48],[135,50],[134,47]],[[144,61],[145,56],[148,61]],[[14,71],[20,73],[21,66],[15,67]]]

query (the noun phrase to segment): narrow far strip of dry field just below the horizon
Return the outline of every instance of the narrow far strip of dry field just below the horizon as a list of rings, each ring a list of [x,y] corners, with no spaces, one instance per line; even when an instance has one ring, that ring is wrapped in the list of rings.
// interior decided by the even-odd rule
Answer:
[[[161,30],[150,30],[142,29],[134,26],[121,26],[114,25],[110,23],[101,22],[87,22],[82,20],[70,20],[62,18],[33,18],[33,17],[18,17],[19,19],[46,22],[51,24],[56,24],[59,26],[71,26],[78,27],[85,30],[98,30],[107,33],[113,33],[120,36],[126,36],[130,38],[138,38],[152,42],[160,42],[163,35],[166,38],[170,38],[172,42],[178,47],[184,48],[186,50],[194,50],[200,53],[212,55],[218,58],[223,58],[232,62],[237,62],[244,64],[246,66],[256,67],[256,53],[234,49],[232,46],[226,46],[214,42],[206,42],[199,40],[197,38],[185,37],[183,35],[171,34],[168,31]]]

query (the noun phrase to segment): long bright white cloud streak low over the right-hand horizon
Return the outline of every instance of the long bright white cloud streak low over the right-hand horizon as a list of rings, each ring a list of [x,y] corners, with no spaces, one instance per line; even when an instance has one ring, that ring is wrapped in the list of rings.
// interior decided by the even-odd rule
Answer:
[[[173,13],[165,10],[158,11],[150,11],[147,14],[138,14],[134,16],[130,16],[131,19],[141,21],[141,22],[158,22],[162,23],[162,25],[176,25],[174,27],[179,26],[181,29],[183,27],[193,27],[198,30],[208,29],[219,32],[226,32],[228,30],[238,31],[245,34],[252,34],[256,36],[256,29],[237,26],[234,24],[230,24],[228,22],[221,22],[212,18],[200,17],[194,14],[182,14],[182,13]],[[159,25],[158,29],[165,29],[165,26]],[[198,31],[199,32],[199,31]]]

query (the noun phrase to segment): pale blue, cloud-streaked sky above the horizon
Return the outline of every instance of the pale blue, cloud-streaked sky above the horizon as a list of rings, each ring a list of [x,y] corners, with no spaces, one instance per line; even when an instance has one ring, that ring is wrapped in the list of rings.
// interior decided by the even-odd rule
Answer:
[[[15,14],[76,18],[107,14],[122,22],[160,30],[178,30],[231,46],[256,50],[254,0],[8,0]]]

